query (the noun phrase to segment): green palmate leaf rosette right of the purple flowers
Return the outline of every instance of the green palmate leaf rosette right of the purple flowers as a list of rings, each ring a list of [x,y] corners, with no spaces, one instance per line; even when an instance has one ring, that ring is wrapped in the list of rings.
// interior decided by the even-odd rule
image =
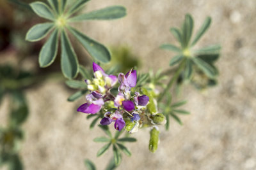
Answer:
[[[220,45],[205,46],[200,49],[194,49],[194,46],[202,35],[207,31],[211,24],[211,17],[207,17],[204,24],[196,32],[192,39],[194,21],[191,15],[187,14],[180,29],[172,27],[170,31],[173,36],[179,41],[180,46],[172,44],[161,45],[160,48],[164,50],[172,50],[177,53],[175,57],[170,60],[170,66],[179,64],[182,67],[182,72],[179,76],[179,83],[184,80],[193,79],[193,75],[201,73],[209,80],[215,80],[218,76],[218,69],[214,66],[214,62],[220,55]]]

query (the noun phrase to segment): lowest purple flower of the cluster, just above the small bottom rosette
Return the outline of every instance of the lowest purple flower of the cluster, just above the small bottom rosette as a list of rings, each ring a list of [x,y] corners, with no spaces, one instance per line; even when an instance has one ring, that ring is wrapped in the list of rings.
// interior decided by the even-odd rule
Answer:
[[[118,131],[121,131],[125,127],[125,122],[123,119],[123,116],[120,115],[119,111],[116,111],[115,113],[111,114],[111,112],[106,112],[104,115],[104,118],[100,120],[100,124],[102,125],[109,125],[111,122],[115,122],[115,129]]]

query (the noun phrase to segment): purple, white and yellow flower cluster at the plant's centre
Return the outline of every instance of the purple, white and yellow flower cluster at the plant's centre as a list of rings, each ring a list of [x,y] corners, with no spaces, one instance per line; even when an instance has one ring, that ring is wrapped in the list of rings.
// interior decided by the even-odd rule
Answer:
[[[79,106],[77,111],[95,114],[100,110],[106,110],[100,124],[109,125],[115,122],[115,129],[125,129],[136,132],[142,125],[141,116],[145,115],[149,97],[139,92],[132,93],[132,87],[136,87],[137,73],[131,69],[128,73],[120,73],[118,77],[108,75],[102,67],[93,62],[93,80],[85,80],[90,94],[86,95],[86,103]],[[111,89],[120,83],[118,94],[113,96]],[[133,96],[132,96],[133,95]],[[111,108],[109,108],[111,106]]]

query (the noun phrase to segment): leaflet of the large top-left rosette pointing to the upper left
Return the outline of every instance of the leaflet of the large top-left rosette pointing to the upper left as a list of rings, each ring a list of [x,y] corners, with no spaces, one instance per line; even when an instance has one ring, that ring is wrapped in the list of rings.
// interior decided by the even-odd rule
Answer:
[[[35,2],[29,5],[38,16],[52,21],[55,20],[52,10],[49,8],[47,4],[42,2]]]

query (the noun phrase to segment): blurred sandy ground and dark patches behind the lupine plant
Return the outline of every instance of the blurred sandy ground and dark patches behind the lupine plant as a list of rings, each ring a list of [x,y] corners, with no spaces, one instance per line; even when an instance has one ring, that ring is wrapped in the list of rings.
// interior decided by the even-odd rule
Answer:
[[[169,29],[179,27],[186,13],[191,13],[195,20],[194,31],[205,17],[212,17],[212,25],[198,47],[216,43],[222,46],[216,63],[219,84],[201,91],[185,84],[176,97],[188,100],[184,109],[191,115],[181,117],[184,125],[171,120],[170,131],[162,127],[156,153],[148,151],[148,129],[132,134],[138,139],[127,145],[132,157],[124,155],[117,169],[256,169],[256,1],[93,0],[84,11],[117,4],[127,8],[125,18],[76,25],[91,38],[115,49],[113,64],[131,62],[142,73],[150,68],[168,69],[174,53],[159,46],[176,42]],[[65,170],[85,169],[84,159],[91,159],[98,169],[103,169],[112,153],[109,150],[96,157],[104,144],[92,140],[104,133],[98,127],[90,130],[92,120],[77,113],[84,97],[74,103],[67,101],[76,91],[65,85],[60,62],[39,68],[38,53],[45,39],[37,43],[24,41],[28,29],[42,21],[26,7],[0,0],[1,69],[10,66],[8,73],[13,73],[13,80],[20,80],[20,74],[21,78],[31,78],[29,83],[18,81],[18,87],[13,87],[22,91],[29,110],[26,122],[20,125],[24,131],[20,160],[25,169]],[[81,46],[74,46],[81,63],[90,68],[92,59]],[[120,53],[131,59],[118,58]],[[3,83],[0,80],[0,85]],[[8,113],[13,106],[13,89],[5,90],[7,95],[0,105],[1,127],[8,126]]]

